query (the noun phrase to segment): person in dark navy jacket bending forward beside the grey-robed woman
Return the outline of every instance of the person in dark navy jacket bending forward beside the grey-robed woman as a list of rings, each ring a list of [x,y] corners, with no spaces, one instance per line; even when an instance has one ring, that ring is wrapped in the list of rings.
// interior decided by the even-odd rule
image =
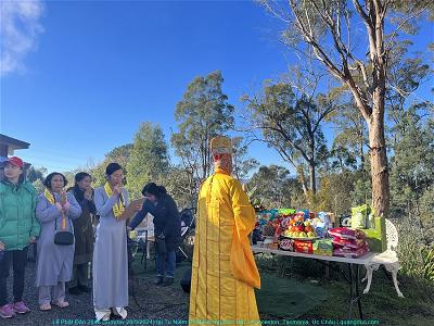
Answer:
[[[148,213],[154,216],[156,240],[156,285],[169,286],[174,283],[176,253],[181,240],[181,220],[175,200],[166,189],[150,183],[142,195],[146,198],[142,210],[129,224],[135,229]]]

